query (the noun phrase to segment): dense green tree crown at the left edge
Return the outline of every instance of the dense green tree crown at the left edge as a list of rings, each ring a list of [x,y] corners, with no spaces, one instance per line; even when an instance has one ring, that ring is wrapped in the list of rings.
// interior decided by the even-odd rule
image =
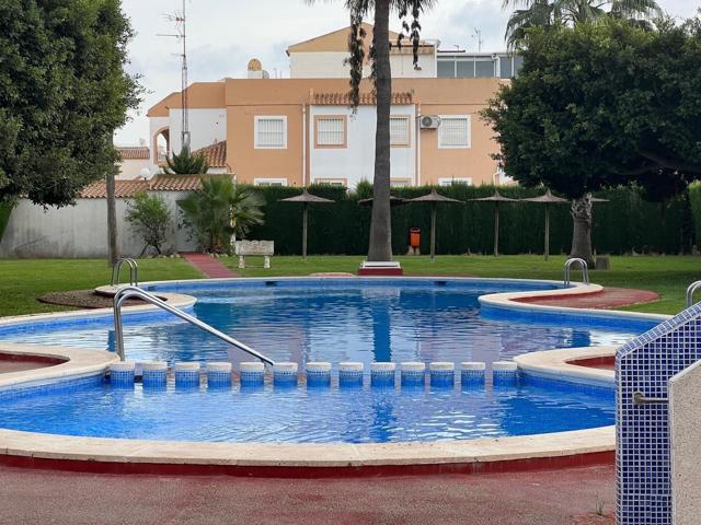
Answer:
[[[0,0],[0,200],[66,206],[113,168],[131,35],[118,0]]]

